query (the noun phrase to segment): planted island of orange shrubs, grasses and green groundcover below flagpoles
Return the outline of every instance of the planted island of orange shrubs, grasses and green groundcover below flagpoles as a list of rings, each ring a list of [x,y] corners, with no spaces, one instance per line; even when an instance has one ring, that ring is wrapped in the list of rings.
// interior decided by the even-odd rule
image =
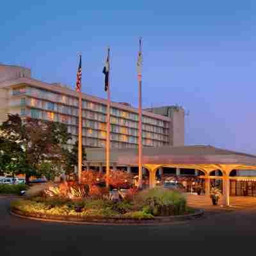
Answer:
[[[111,176],[112,188],[102,184],[102,177],[94,177],[93,172],[86,173],[86,184],[63,182],[49,185],[42,191],[36,191],[26,199],[12,202],[11,210],[18,214],[38,218],[63,220],[154,220],[159,217],[186,215],[193,213],[186,204],[185,196],[171,189],[153,188],[139,191],[130,188],[128,177],[123,184],[120,177],[124,173],[115,171]],[[118,178],[119,177],[119,178]],[[118,182],[119,180],[119,182]],[[115,188],[115,186],[117,188]],[[126,189],[120,189],[127,187]],[[29,194],[28,194],[29,195]],[[60,218],[58,217],[58,220]]]

